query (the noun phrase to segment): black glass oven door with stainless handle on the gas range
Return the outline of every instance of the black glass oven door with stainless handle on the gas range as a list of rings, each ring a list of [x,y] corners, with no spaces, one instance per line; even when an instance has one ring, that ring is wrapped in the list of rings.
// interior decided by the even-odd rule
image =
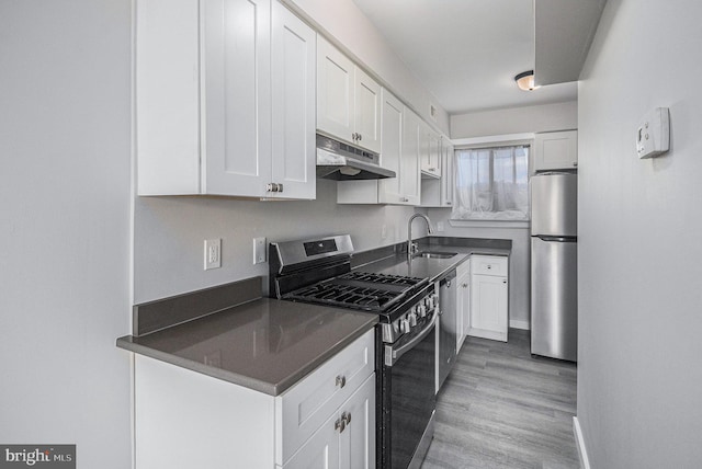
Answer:
[[[382,468],[419,467],[431,442],[427,431],[437,401],[434,329],[432,319],[416,336],[384,346]]]

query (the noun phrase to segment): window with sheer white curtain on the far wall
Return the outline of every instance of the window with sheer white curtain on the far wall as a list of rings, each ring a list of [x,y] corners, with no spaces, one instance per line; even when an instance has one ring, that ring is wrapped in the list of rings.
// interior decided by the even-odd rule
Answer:
[[[455,158],[452,219],[529,219],[529,146],[460,149]]]

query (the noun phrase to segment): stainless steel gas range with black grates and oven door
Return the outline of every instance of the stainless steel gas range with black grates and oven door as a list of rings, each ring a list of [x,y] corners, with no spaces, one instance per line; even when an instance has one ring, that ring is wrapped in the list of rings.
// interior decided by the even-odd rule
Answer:
[[[351,270],[348,234],[271,243],[270,295],[378,316],[377,467],[418,468],[433,437],[439,295],[427,278]]]

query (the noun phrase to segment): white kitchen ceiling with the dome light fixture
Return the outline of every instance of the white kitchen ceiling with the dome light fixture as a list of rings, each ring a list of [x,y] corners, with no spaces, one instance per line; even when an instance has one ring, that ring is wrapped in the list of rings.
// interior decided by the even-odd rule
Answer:
[[[514,83],[534,69],[534,0],[353,1],[449,114],[577,98],[575,81]]]

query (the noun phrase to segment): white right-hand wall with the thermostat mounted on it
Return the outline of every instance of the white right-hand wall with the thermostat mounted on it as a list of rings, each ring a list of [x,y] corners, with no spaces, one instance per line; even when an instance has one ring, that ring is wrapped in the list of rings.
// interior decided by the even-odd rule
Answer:
[[[700,2],[610,0],[581,76],[577,413],[592,468],[702,464],[701,16]],[[638,160],[655,106],[671,150]]]

